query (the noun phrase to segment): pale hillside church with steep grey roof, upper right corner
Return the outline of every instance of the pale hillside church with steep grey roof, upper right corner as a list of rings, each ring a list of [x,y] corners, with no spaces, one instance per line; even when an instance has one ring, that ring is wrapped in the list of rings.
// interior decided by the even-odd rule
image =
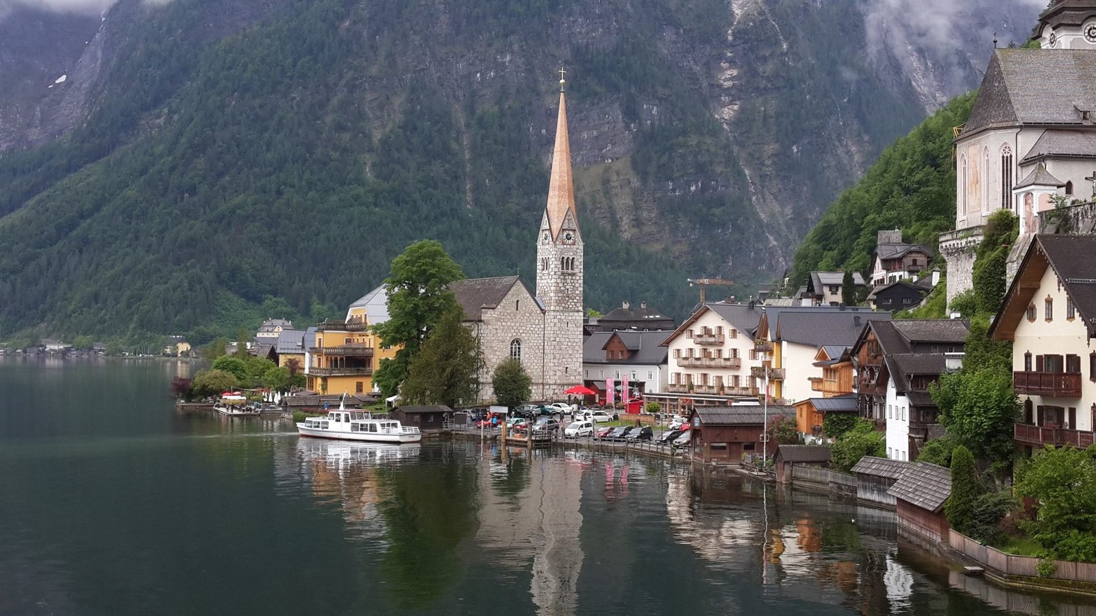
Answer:
[[[990,215],[1019,218],[1014,262],[1034,233],[1061,231],[1041,213],[1055,201],[1091,203],[1096,192],[1096,0],[1058,0],[1031,39],[1038,48],[993,50],[970,117],[956,127],[956,226],[940,235],[949,305],[972,287]]]

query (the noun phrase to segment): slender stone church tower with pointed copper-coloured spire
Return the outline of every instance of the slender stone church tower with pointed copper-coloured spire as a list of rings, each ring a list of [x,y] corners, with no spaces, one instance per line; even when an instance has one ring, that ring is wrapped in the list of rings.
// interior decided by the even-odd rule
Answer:
[[[582,383],[582,235],[574,210],[566,81],[560,79],[559,85],[548,204],[537,233],[537,297],[545,309],[544,385],[549,396]]]

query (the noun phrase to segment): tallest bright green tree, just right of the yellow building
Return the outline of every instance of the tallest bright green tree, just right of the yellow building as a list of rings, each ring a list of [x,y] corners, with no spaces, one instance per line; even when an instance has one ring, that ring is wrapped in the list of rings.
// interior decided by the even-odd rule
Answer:
[[[447,287],[464,276],[460,265],[435,240],[418,241],[392,260],[385,278],[389,319],[374,328],[383,344],[399,347],[396,357],[381,362],[379,374],[374,375],[386,396],[407,379],[423,341],[442,316],[457,306]]]

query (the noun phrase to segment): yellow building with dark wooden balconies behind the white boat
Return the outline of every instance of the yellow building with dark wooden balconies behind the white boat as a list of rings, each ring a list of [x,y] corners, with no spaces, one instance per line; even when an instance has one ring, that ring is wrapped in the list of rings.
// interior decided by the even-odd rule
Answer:
[[[380,361],[396,356],[369,328],[365,307],[351,306],[345,321],[324,321],[306,349],[306,387],[320,393],[368,393],[373,370]]]

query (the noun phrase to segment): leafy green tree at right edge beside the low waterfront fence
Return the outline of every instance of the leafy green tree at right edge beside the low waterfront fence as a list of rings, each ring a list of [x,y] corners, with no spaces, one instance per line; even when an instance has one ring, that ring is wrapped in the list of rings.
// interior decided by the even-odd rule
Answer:
[[[1096,562],[1096,447],[1048,445],[1017,477],[1016,494],[1038,507],[1020,526],[1042,544],[1046,556]]]

